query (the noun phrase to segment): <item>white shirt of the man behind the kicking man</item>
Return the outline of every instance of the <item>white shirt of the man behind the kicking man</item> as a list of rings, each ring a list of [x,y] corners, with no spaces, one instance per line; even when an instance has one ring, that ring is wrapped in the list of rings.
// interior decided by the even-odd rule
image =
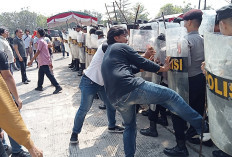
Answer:
[[[86,70],[84,70],[84,74],[100,86],[104,86],[101,73],[101,65],[104,55],[105,53],[102,50],[102,45],[100,45],[97,49],[97,52],[94,54],[93,59],[90,62],[90,65]]]

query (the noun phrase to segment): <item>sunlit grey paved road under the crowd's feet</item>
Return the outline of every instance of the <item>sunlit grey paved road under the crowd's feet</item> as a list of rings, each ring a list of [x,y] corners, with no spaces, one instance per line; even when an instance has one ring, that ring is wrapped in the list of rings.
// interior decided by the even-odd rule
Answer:
[[[79,107],[81,93],[78,88],[80,77],[67,68],[71,58],[62,58],[61,54],[54,54],[54,74],[63,87],[62,93],[53,95],[55,90],[45,77],[44,91],[35,91],[38,69],[35,64],[27,69],[31,83],[21,83],[19,71],[14,73],[20,97],[23,100],[21,114],[28,129],[31,131],[35,144],[44,151],[45,157],[123,157],[122,134],[112,134],[107,131],[106,111],[98,109],[102,103],[95,100],[93,107],[86,116],[86,120],[79,135],[79,145],[69,145],[69,138],[73,126],[75,113]],[[117,123],[122,120],[117,113]],[[138,130],[149,126],[147,117],[138,114]],[[158,138],[145,137],[137,134],[136,157],[164,157],[163,149],[175,145],[174,135],[169,127],[158,125]],[[190,146],[190,147],[189,147]],[[198,145],[189,145],[190,157],[199,156]],[[215,148],[203,147],[205,157],[210,157]]]

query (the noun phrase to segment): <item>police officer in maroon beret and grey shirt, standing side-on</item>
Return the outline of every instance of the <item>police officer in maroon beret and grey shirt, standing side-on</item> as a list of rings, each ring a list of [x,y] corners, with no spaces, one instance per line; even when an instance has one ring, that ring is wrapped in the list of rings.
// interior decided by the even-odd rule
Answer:
[[[202,21],[202,11],[192,9],[184,14],[184,27],[187,29],[185,37],[189,43],[188,56],[188,80],[189,80],[189,105],[200,115],[203,115],[205,105],[205,77],[201,71],[201,63],[204,61],[204,40],[200,36],[198,29]],[[172,115],[173,129],[175,131],[177,145],[173,148],[165,148],[167,156],[188,156],[185,140],[192,139],[197,135],[196,130],[190,126],[185,136],[186,121],[179,116]]]

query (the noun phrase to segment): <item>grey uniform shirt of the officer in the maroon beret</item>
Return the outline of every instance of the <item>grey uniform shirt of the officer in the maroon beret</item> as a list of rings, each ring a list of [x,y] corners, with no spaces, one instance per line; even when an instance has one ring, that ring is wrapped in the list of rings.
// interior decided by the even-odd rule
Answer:
[[[204,39],[198,31],[188,33],[185,37],[189,43],[189,66],[188,76],[193,77],[202,73],[201,63],[205,60],[204,57]]]

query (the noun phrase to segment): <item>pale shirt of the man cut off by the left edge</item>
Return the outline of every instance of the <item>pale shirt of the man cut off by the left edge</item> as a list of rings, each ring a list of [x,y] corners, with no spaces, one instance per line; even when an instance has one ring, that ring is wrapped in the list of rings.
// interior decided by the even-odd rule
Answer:
[[[8,41],[0,35],[0,50],[7,54],[8,63],[14,62],[14,56]]]

